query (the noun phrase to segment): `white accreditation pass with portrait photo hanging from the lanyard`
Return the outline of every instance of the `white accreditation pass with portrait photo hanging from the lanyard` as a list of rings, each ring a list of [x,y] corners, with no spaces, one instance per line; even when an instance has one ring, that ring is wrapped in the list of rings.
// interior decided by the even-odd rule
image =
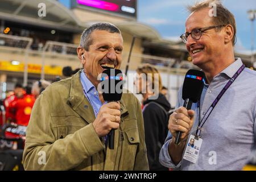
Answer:
[[[196,163],[203,139],[190,135],[183,159]]]

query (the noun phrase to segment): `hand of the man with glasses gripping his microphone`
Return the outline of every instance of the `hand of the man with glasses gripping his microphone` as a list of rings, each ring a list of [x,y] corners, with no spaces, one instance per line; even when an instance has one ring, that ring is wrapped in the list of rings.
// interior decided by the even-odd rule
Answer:
[[[180,107],[174,113],[171,114],[168,124],[173,140],[176,138],[177,131],[181,131],[181,141],[187,140],[188,134],[190,133],[194,123],[195,111],[187,110],[185,107]]]

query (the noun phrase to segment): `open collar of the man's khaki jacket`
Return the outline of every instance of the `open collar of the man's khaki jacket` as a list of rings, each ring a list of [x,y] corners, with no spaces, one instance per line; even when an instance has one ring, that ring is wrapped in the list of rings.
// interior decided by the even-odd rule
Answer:
[[[71,78],[71,89],[68,98],[68,104],[71,108],[79,114],[88,124],[92,123],[95,120],[95,115],[93,107],[90,105],[90,102],[85,97],[82,90],[82,83],[80,80],[81,70],[77,72]],[[126,109],[123,100],[120,101],[121,104],[121,117],[127,114],[128,110]]]

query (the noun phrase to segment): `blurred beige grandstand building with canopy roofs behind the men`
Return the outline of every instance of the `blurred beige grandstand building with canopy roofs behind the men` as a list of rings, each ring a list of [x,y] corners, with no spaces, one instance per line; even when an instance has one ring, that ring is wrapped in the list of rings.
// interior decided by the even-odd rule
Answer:
[[[82,6],[78,2],[71,0],[71,9],[68,9],[54,0],[1,0],[1,85],[5,84],[5,89],[12,90],[15,82],[23,82],[26,86],[40,78],[54,81],[56,76],[63,77],[63,67],[80,68],[76,47],[81,32],[92,23],[108,21],[117,25],[123,33],[121,69],[126,67],[131,42],[135,37],[129,72],[133,73],[139,65],[145,63],[158,67],[163,85],[169,86],[174,105],[177,88],[185,72],[195,68],[189,62],[191,57],[185,46],[181,42],[162,39],[154,28],[137,22],[136,13],[112,13]],[[137,11],[136,1],[131,2],[134,2],[134,10]],[[38,14],[40,3],[46,5],[46,16]],[[6,31],[6,28],[9,29]],[[237,56],[242,57],[247,67],[252,66],[249,55],[237,53]],[[1,85],[0,88],[3,88]]]

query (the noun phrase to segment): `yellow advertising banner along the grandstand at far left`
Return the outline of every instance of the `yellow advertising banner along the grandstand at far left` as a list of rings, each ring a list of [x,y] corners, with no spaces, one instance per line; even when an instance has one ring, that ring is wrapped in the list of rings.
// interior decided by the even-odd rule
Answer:
[[[24,63],[19,65],[13,65],[10,61],[0,61],[0,70],[10,72],[24,72]],[[28,73],[40,74],[42,65],[40,64],[28,64]],[[52,67],[46,65],[44,67],[44,74],[46,75],[62,75],[62,67]]]

